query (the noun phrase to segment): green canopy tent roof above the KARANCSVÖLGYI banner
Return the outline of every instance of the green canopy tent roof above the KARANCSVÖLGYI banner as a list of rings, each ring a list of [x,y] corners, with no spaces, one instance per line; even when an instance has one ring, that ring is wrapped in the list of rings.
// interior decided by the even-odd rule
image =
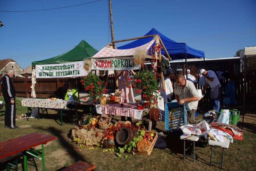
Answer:
[[[50,59],[32,62],[32,66],[83,61],[90,59],[96,52],[98,52],[96,49],[82,40],[74,49]]]

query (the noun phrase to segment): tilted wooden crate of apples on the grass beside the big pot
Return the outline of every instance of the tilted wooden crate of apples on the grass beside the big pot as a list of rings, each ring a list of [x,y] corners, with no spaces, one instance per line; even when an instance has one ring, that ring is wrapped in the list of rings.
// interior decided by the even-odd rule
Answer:
[[[137,149],[134,149],[134,154],[142,154],[149,156],[154,148],[157,140],[157,132],[144,131],[145,136],[142,136],[142,140],[138,142]]]

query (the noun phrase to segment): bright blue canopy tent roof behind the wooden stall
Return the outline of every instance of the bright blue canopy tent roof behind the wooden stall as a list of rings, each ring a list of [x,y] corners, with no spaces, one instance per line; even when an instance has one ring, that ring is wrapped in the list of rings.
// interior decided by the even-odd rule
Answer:
[[[185,54],[187,53],[187,59],[191,58],[204,58],[204,51],[199,51],[193,48],[190,48],[186,43],[177,43],[168,37],[162,35],[155,28],[152,28],[146,35],[155,35],[158,34],[164,43],[166,50],[168,51],[172,60],[175,59],[185,59]],[[153,37],[147,37],[143,39],[138,39],[131,43],[125,44],[123,46],[117,47],[117,49],[131,49],[143,44],[146,44],[152,40]],[[154,43],[155,44],[155,43]],[[153,44],[153,45],[154,45]],[[161,54],[166,57],[164,49],[161,49]]]

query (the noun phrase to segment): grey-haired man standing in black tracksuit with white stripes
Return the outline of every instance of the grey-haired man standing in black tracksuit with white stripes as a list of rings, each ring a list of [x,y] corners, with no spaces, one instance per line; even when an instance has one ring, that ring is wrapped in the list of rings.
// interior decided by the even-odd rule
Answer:
[[[12,68],[7,70],[7,73],[1,79],[2,93],[5,101],[5,113],[4,113],[4,128],[16,129],[15,117],[16,117],[16,105],[15,105],[15,89],[12,83],[12,77],[14,76],[14,70]]]

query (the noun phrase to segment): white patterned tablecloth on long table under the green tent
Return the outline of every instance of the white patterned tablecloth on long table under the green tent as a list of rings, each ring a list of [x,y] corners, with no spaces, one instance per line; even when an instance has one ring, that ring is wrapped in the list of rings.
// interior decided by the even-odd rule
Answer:
[[[28,99],[21,100],[22,106],[52,108],[52,109],[67,109],[68,103],[79,103],[79,101],[50,100],[50,99],[39,99],[39,98],[34,98],[34,99],[28,98]]]

